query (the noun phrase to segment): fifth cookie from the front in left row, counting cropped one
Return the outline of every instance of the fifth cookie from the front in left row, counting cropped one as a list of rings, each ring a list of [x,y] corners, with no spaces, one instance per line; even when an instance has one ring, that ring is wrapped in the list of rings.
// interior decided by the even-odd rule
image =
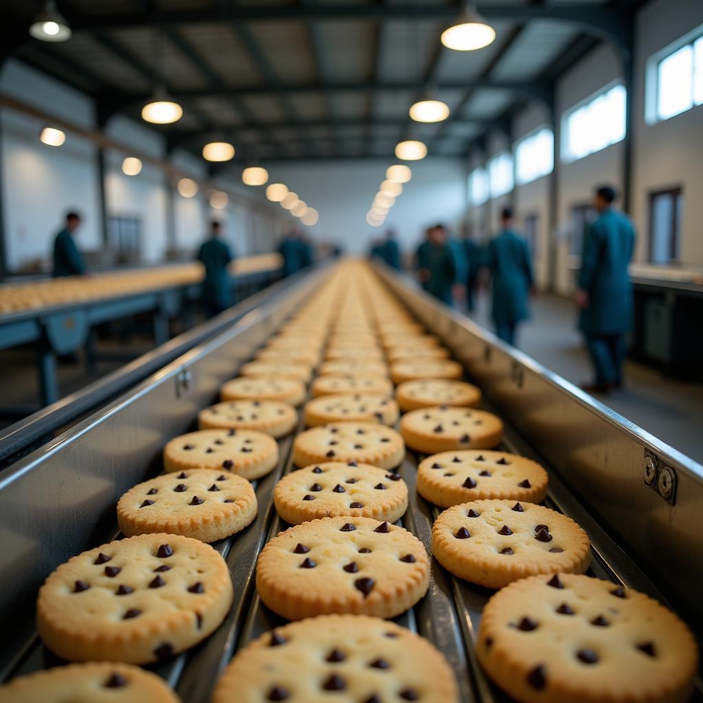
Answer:
[[[257,430],[271,437],[290,434],[297,421],[295,408],[278,400],[231,400],[198,413],[199,430]]]

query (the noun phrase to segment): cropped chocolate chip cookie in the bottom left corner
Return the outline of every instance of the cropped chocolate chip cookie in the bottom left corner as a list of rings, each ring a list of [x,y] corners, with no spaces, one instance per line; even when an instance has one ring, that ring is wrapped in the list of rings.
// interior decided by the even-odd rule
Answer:
[[[0,703],[179,703],[161,678],[131,664],[56,666],[0,686]]]

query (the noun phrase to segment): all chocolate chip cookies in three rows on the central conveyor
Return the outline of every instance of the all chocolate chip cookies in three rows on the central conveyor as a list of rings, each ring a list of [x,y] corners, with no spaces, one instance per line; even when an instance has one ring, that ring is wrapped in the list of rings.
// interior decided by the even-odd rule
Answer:
[[[548,473],[501,451],[503,424],[441,341],[366,264],[347,262],[221,387],[196,432],[164,449],[165,472],[117,504],[124,538],[58,567],[37,602],[39,634],[68,662],[15,679],[0,702],[167,702],[135,666],[168,659],[228,614],[228,567],[210,543],[247,529],[254,486],[292,527],[259,554],[262,603],[290,621],[238,650],[214,703],[452,703],[444,656],[392,619],[430,586],[430,554],[401,527],[413,485],[436,519],[432,556],[486,605],[476,651],[524,702],[683,702],[697,670],[688,628],[646,595],[584,575],[586,531],[541,505]],[[404,413],[400,417],[400,413]],[[409,477],[406,475],[406,477]],[[444,512],[439,512],[437,508]]]

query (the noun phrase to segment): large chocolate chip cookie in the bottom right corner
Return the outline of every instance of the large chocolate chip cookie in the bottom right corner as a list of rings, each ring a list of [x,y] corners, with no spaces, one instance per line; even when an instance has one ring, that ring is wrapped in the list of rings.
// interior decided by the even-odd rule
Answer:
[[[698,666],[683,622],[632,588],[588,576],[532,576],[484,608],[486,673],[524,703],[684,703]]]

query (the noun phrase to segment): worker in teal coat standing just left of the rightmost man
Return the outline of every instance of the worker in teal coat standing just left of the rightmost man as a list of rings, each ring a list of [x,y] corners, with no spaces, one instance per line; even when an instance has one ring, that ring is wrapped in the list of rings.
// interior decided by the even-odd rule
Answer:
[[[532,264],[527,240],[513,230],[512,209],[501,212],[501,232],[486,250],[486,268],[493,285],[491,316],[496,335],[515,344],[517,324],[529,317],[528,298],[532,289]]]

